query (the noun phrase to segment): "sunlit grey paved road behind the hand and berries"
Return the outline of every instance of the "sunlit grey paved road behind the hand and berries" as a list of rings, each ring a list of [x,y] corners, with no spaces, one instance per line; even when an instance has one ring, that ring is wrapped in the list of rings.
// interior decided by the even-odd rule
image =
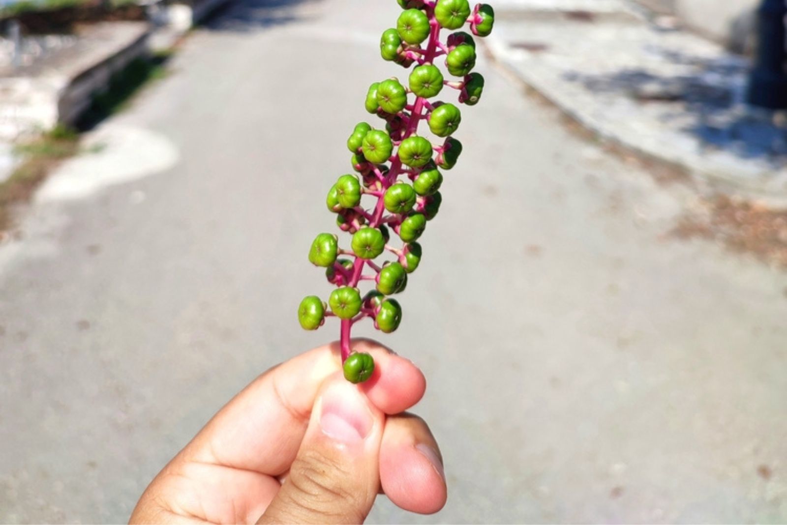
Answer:
[[[246,0],[42,189],[0,249],[0,521],[127,519],[235,391],[338,335],[294,310],[328,290],[305,252],[397,10]],[[449,503],[370,521],[787,519],[787,276],[671,237],[689,190],[483,62],[385,337],[427,373]]]

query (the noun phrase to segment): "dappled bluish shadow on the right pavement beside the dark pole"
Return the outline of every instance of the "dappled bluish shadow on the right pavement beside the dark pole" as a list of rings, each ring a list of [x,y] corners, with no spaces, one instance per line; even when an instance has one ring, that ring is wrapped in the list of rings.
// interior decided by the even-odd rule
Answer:
[[[661,105],[660,119],[678,119],[676,130],[698,138],[708,149],[741,159],[787,161],[787,127],[743,104],[748,62],[736,57],[708,59],[654,50],[689,72],[657,75],[645,69],[623,69],[606,75],[571,73],[593,93],[619,94],[645,105]],[[657,109],[658,111],[658,109]]]

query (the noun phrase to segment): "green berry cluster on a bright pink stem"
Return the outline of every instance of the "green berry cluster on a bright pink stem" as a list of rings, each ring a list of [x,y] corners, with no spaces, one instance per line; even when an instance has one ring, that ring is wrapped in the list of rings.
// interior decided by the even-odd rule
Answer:
[[[337,226],[349,237],[340,241],[320,233],[309,248],[309,262],[325,268],[336,288],[327,302],[308,296],[298,307],[298,321],[307,330],[320,328],[327,317],[339,319],[344,375],[353,383],[368,380],[375,369],[371,355],[350,347],[353,325],[370,318],[376,329],[390,333],[401,322],[401,305],[391,296],[405,290],[421,262],[418,240],[442,203],[442,171],[453,168],[462,152],[453,138],[462,120],[460,106],[476,105],[484,90],[484,78],[472,71],[474,37],[489,35],[494,24],[488,4],[397,3],[402,11],[395,27],[382,32],[380,56],[412,70],[402,79],[372,83],[366,92],[364,108],[382,122],[353,128],[347,149],[355,173],[340,175],[326,198]],[[461,31],[464,26],[469,32]],[[450,90],[458,92],[456,104],[434,100]],[[398,239],[392,240],[391,232]],[[384,255],[390,259],[379,261]]]

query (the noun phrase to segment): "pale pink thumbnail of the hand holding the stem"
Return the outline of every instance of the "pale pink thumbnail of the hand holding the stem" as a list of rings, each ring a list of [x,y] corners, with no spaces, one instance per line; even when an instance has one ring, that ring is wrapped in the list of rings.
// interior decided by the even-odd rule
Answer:
[[[323,434],[343,443],[361,442],[374,420],[366,403],[354,388],[331,387],[322,398],[320,428]]]

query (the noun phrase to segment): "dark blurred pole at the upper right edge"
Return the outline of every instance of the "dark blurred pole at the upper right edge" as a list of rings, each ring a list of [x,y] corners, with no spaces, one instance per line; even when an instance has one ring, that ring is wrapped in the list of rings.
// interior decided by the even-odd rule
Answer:
[[[785,0],[763,0],[757,9],[757,57],[746,97],[751,105],[787,108],[785,17]]]

